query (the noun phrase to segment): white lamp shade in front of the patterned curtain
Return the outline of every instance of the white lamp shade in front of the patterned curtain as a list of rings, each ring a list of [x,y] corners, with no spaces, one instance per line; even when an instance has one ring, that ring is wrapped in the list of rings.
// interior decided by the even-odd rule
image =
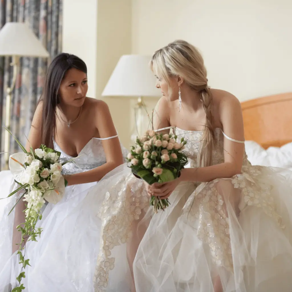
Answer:
[[[27,24],[7,22],[0,30],[0,55],[47,58],[49,53]]]

